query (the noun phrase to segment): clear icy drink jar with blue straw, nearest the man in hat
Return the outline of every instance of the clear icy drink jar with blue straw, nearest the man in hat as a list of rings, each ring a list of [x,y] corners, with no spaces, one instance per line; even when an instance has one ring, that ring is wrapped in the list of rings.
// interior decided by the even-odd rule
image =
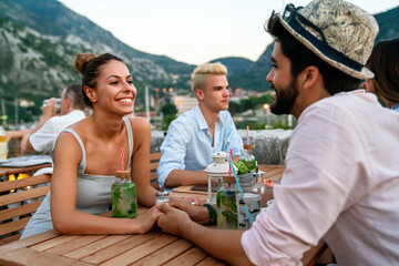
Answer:
[[[255,221],[256,215],[260,212],[262,196],[254,184],[254,178],[250,173],[246,175],[238,175],[238,181],[243,190],[243,195],[241,195],[239,193],[237,193],[236,195],[236,204],[238,212],[237,227],[239,229],[249,229],[250,219]],[[247,211],[245,209],[245,206],[248,209],[250,218]]]

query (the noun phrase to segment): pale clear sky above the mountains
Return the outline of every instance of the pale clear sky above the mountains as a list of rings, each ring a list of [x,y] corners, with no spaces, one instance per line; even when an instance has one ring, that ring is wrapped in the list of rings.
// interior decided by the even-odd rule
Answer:
[[[256,61],[272,42],[264,23],[273,10],[310,0],[59,0],[142,52],[201,64],[217,58]],[[398,0],[350,0],[369,13]]]

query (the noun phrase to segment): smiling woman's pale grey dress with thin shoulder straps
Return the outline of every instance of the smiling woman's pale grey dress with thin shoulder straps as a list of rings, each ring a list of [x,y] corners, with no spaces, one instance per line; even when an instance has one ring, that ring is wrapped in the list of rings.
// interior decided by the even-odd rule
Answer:
[[[127,129],[129,141],[129,163],[130,170],[131,157],[133,153],[133,132],[127,117],[123,117]],[[78,141],[82,150],[82,161],[78,166],[78,195],[76,195],[76,209],[90,214],[99,214],[109,211],[111,205],[111,185],[115,182],[113,175],[92,175],[84,174],[86,155],[83,142],[75,131],[65,129],[63,132],[71,133]],[[33,217],[29,221],[21,238],[37,235],[39,233],[52,229],[50,213],[50,192],[47,194],[42,204],[34,213]]]

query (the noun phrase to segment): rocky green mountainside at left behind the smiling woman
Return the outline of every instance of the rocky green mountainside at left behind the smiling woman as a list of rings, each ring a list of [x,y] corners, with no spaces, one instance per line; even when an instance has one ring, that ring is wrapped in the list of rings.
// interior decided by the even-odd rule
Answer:
[[[135,50],[57,0],[1,0],[0,35],[0,93],[6,100],[41,101],[80,82],[73,68],[78,52],[120,57],[133,75],[139,103],[144,85],[186,86],[194,69]]]

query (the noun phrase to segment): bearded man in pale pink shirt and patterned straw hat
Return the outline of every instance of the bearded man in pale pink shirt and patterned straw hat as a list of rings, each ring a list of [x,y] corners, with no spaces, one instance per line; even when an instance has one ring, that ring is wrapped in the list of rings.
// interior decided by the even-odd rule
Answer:
[[[376,20],[347,1],[314,0],[273,13],[266,30],[272,111],[298,119],[274,203],[245,232],[202,226],[206,209],[176,201],[158,205],[157,224],[232,265],[301,265],[321,238],[338,265],[398,264],[399,114],[359,89],[374,76],[365,64]]]

